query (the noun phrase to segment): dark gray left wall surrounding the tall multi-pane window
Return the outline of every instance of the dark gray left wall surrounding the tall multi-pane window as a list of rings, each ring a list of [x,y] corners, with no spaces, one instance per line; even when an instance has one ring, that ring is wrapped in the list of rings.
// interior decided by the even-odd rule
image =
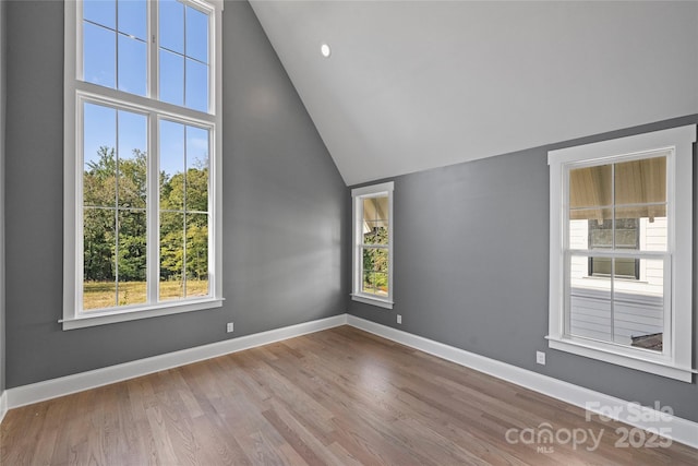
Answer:
[[[224,11],[222,309],[63,332],[63,2],[8,3],[7,386],[346,311],[347,188],[246,2]]]

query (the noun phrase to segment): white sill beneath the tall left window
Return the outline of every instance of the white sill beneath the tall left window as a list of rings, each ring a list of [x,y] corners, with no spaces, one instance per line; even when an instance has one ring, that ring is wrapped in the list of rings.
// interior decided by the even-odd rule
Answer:
[[[189,301],[160,302],[154,306],[131,308],[118,311],[92,311],[73,319],[63,319],[63,330],[85,328],[96,325],[105,325],[117,322],[134,321],[139,319],[157,318],[160,315],[179,314],[182,312],[203,311],[205,309],[220,308],[222,298],[204,298]]]

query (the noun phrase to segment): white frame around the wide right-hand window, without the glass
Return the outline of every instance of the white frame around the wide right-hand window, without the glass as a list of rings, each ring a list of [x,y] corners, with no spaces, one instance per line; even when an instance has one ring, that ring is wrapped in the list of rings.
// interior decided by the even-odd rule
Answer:
[[[549,347],[636,370],[691,382],[693,325],[693,158],[696,126],[672,128],[585,144],[547,153],[550,165],[550,307]],[[569,169],[639,158],[670,151],[666,160],[669,238],[664,280],[664,326],[661,354],[570,335],[566,282],[569,268]]]

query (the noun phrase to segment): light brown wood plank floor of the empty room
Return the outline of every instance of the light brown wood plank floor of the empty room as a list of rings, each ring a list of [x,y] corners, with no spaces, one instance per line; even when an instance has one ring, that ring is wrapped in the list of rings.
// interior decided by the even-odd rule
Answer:
[[[543,422],[554,432],[591,429],[602,435],[600,446],[506,440],[507,431],[517,440]],[[616,447],[618,428],[625,426],[586,421],[582,409],[341,326],[12,409],[0,429],[0,464],[698,462],[698,451],[677,443]]]

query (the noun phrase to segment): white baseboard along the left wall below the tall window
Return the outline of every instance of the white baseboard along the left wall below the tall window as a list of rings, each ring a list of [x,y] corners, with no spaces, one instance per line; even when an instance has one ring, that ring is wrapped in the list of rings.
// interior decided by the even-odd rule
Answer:
[[[241,351],[243,349],[305,335],[308,333],[320,332],[322,330],[332,328],[346,323],[347,314],[340,314],[282,328],[255,333],[253,335],[216,342],[209,345],[182,349],[181,351],[153,356],[151,358],[124,362],[122,365],[109,366],[59,379],[9,389],[4,391],[2,398],[0,398],[0,414],[3,414],[3,399],[5,410],[12,409],[43,402],[45,399],[56,398],[71,393],[82,392],[84,390],[95,389],[110,383],[146,375],[153,372],[202,361],[204,359],[210,359],[217,356],[224,356],[230,353]]]

